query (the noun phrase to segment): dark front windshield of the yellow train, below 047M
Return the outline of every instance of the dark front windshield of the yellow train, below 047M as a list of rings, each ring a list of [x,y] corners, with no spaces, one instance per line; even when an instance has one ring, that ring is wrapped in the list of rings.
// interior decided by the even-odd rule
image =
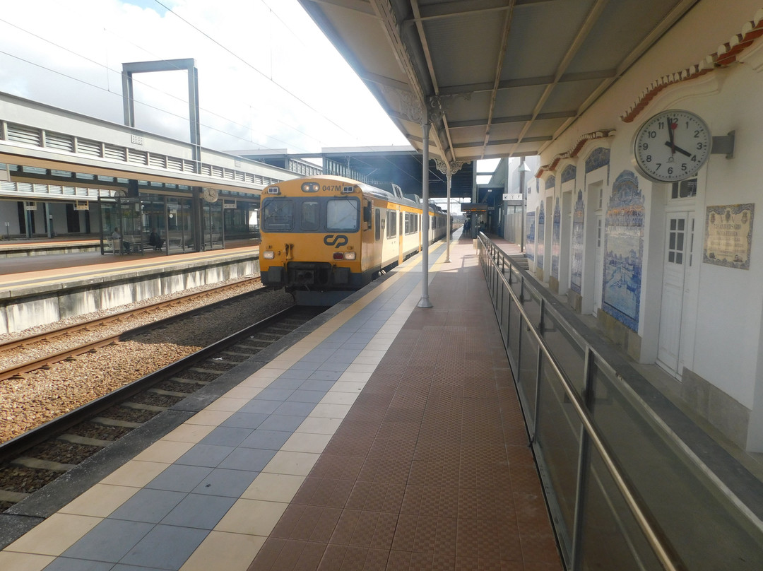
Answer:
[[[279,197],[262,201],[262,230],[266,232],[357,232],[360,200],[355,196]]]

